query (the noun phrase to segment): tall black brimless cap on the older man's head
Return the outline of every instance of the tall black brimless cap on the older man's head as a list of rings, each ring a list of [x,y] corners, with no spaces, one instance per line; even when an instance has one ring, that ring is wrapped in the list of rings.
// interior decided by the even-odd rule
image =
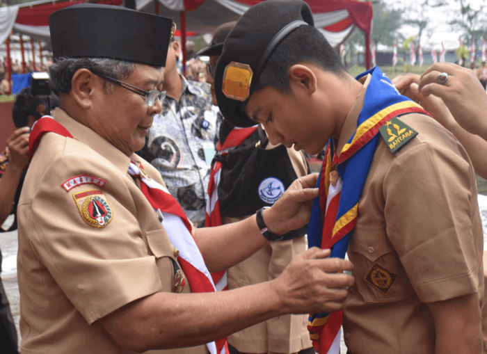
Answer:
[[[49,16],[54,58],[111,58],[166,65],[173,20],[120,6],[81,3]]]

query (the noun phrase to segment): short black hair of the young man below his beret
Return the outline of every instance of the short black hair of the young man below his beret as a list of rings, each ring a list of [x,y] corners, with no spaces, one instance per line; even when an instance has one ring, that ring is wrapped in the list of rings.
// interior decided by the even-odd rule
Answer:
[[[314,26],[301,26],[289,33],[271,54],[256,90],[271,86],[289,93],[289,67],[297,63],[312,63],[327,72],[346,74],[340,57]]]

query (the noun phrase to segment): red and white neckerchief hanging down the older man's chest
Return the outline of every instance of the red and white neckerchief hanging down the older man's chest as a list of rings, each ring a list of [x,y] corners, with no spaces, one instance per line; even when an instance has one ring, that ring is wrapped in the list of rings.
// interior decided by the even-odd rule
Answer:
[[[188,279],[193,293],[209,293],[216,291],[211,274],[209,273],[200,249],[191,234],[189,222],[182,207],[170,195],[168,189],[147,176],[143,166],[138,168],[131,162],[129,175],[141,177],[141,191],[150,202],[154,211],[163,216],[162,225],[168,234],[170,242],[179,249],[177,261],[184,275]],[[207,344],[211,354],[228,354],[227,339],[218,339]]]

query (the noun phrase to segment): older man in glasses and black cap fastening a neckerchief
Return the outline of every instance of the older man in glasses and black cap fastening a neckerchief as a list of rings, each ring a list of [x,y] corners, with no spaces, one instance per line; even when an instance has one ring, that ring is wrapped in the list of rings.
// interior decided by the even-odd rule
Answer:
[[[194,230],[159,172],[133,153],[161,111],[171,25],[91,4],[49,18],[61,108],[33,127],[19,201],[21,353],[223,354],[226,335],[281,314],[338,309],[353,284],[340,274],[349,262],[314,248],[272,282],[214,293],[209,271],[270,240],[255,217]],[[260,225],[285,234],[305,224],[314,177],[292,184]]]

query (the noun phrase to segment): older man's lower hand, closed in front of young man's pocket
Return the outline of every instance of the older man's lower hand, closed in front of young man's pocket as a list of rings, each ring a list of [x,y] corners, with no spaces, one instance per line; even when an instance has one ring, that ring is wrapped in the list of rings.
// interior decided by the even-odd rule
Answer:
[[[351,271],[352,264],[340,258],[328,258],[330,250],[313,247],[296,256],[271,286],[285,312],[306,314],[333,312],[342,308],[355,280],[343,271]]]

